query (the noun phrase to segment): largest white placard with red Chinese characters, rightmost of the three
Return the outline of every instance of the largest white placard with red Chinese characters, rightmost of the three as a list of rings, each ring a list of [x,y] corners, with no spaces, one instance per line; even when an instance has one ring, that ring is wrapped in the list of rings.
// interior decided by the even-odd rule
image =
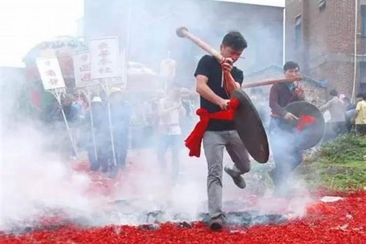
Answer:
[[[121,77],[121,62],[117,37],[89,41],[91,78]]]

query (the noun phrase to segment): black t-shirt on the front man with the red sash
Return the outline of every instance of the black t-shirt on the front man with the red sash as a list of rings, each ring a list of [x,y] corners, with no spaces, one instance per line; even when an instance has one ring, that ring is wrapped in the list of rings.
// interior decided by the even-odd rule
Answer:
[[[223,70],[221,64],[213,56],[205,55],[198,62],[196,72],[194,76],[203,75],[208,78],[207,85],[211,90],[223,99],[229,99],[226,95],[225,89],[223,87]],[[234,80],[240,84],[243,82],[243,71],[237,67],[233,67],[231,70],[231,75]],[[200,96],[201,108],[207,109],[209,113],[221,111],[220,106],[204,99]],[[210,120],[207,129],[210,131],[224,131],[224,130],[235,130],[233,121],[222,121],[222,120]]]

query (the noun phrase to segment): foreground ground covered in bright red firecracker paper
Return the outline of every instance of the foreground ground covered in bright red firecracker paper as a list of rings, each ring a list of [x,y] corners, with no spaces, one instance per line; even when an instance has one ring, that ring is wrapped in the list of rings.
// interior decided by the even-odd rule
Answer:
[[[0,236],[1,244],[102,244],[102,243],[366,243],[366,192],[344,195],[333,203],[315,203],[304,219],[281,225],[250,228],[227,226],[212,232],[202,222],[192,225],[165,223],[157,229],[145,226],[105,226],[82,228],[64,225],[21,235]]]

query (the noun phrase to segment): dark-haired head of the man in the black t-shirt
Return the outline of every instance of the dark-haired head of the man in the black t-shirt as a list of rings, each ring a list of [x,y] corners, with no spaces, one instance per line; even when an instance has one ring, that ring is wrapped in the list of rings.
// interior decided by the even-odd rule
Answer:
[[[224,58],[231,58],[236,62],[246,47],[247,43],[243,35],[238,31],[230,31],[224,36],[220,52]]]

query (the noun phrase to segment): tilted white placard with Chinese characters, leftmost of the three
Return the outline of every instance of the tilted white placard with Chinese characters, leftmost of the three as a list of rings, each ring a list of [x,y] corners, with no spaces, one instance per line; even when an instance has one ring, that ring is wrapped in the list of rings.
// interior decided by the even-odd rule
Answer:
[[[57,57],[38,58],[36,62],[45,90],[65,87]]]

